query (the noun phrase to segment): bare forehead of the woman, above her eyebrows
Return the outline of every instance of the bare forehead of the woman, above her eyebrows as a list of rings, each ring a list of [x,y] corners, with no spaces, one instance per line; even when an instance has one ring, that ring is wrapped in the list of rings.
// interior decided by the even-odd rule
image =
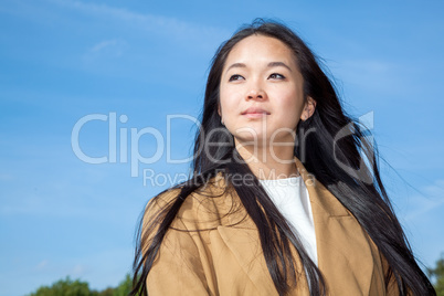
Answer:
[[[282,61],[297,66],[296,56],[284,42],[264,35],[251,35],[237,42],[229,53],[225,66],[231,63],[258,62],[261,60],[265,62]]]

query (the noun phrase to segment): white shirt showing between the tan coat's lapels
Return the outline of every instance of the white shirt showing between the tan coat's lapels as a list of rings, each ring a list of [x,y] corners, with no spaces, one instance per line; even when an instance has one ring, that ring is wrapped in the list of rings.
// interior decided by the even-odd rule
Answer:
[[[260,180],[260,182],[276,208],[296,231],[308,255],[317,265],[315,223],[308,190],[303,178]]]

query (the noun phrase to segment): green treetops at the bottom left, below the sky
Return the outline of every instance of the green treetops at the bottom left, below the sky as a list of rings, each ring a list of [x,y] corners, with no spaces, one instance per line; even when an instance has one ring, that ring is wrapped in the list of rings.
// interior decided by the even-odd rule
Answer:
[[[92,290],[86,282],[73,281],[68,276],[52,284],[52,286],[41,286],[36,292],[29,296],[127,296],[131,290],[131,276],[127,274],[125,279],[115,287],[103,290]]]

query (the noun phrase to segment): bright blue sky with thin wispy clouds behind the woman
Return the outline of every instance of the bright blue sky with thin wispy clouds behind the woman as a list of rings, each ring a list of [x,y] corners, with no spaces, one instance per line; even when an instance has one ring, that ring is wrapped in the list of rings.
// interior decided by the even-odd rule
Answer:
[[[168,142],[167,116],[199,115],[215,49],[257,17],[282,20],[307,41],[349,113],[372,112],[395,211],[417,257],[433,265],[444,252],[442,15],[442,1],[2,0],[0,295],[66,275],[94,288],[124,278],[139,214],[169,183],[144,184],[144,170],[188,173],[165,151],[187,158],[195,126],[170,118]],[[72,148],[76,123],[105,118],[86,123],[78,144],[87,156],[109,156],[114,114],[116,161],[82,161]],[[148,134],[130,145],[140,130]],[[154,157],[161,144],[160,159],[131,177],[131,157]]]

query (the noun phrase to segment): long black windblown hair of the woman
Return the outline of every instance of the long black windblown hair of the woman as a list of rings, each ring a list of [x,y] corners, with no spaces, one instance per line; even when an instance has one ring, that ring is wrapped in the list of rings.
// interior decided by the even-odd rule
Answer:
[[[378,246],[389,264],[384,275],[385,284],[394,277],[400,295],[408,295],[409,292],[413,295],[435,295],[427,277],[417,266],[393,212],[381,181],[378,151],[366,138],[367,130],[345,113],[332,83],[302,39],[281,23],[263,20],[241,28],[218,49],[212,60],[201,128],[194,142],[193,176],[188,182],[178,186],[180,193],[161,213],[161,223],[156,233],[151,234],[154,239],[149,245],[146,245],[147,236],[139,229],[131,295],[147,295],[148,273],[167,231],[190,193],[205,186],[205,180],[215,177],[219,171],[223,171],[229,182],[234,173],[253,175],[242,161],[232,135],[221,124],[218,113],[221,75],[228,55],[234,45],[251,35],[281,40],[293,51],[304,78],[305,99],[311,97],[317,103],[313,116],[300,120],[296,128],[294,155],[350,211]],[[232,145],[209,146],[210,141]],[[310,283],[310,295],[326,295],[327,287],[320,271],[254,175],[253,180],[255,186],[246,187],[235,182],[231,182],[231,186],[257,226],[263,254],[278,294],[286,295],[292,285],[299,281],[290,254],[293,245]]]

